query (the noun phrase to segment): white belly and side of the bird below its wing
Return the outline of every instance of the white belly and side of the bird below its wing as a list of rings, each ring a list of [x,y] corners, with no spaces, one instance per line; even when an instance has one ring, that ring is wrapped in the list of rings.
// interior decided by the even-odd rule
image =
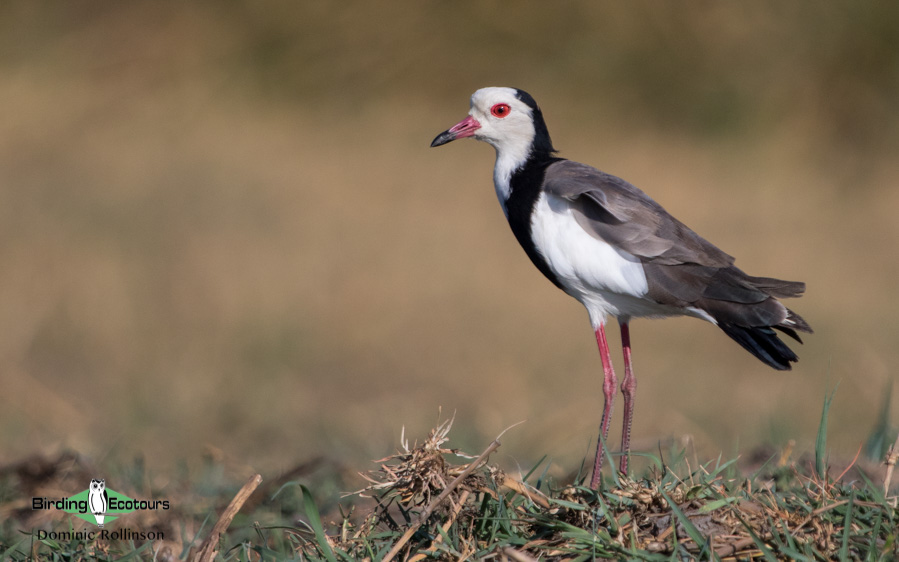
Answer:
[[[531,217],[531,236],[566,292],[587,308],[594,326],[604,323],[606,315],[627,318],[684,313],[650,300],[640,260],[588,234],[565,199],[540,195]]]

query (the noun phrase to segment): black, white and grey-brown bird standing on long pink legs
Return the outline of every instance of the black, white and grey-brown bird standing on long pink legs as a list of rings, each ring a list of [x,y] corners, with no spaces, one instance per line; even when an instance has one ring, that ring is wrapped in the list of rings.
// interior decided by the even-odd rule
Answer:
[[[812,328],[779,299],[801,296],[805,283],[744,273],[732,256],[634,185],[557,156],[543,112],[527,92],[508,87],[477,90],[468,116],[437,135],[431,147],[463,138],[495,149],[494,188],[512,233],[537,269],[587,309],[603,367],[592,488],[601,483],[618,386],[605,333],[609,317],[618,321],[624,354],[623,474],[637,388],[632,319],[699,318],[717,325],[774,369],[790,370],[798,361],[778,332],[802,343],[797,332],[812,333]]]

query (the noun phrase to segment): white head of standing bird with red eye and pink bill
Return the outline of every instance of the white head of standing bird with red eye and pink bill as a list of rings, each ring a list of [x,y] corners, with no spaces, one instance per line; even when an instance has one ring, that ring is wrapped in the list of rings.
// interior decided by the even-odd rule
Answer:
[[[515,88],[481,88],[472,94],[468,117],[437,135],[431,146],[466,137],[489,143],[497,153],[521,160],[533,152],[555,152],[537,102]]]

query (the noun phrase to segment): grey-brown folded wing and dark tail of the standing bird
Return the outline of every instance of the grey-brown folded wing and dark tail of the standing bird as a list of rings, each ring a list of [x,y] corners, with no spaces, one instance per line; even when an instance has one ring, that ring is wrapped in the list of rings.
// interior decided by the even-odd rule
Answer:
[[[651,197],[616,176],[559,160],[546,169],[543,189],[572,203],[592,236],[637,257],[653,301],[695,308],[768,365],[790,368],[796,355],[770,329],[798,341],[812,329],[778,298],[798,297],[805,284],[753,277],[734,258],[672,217]]]

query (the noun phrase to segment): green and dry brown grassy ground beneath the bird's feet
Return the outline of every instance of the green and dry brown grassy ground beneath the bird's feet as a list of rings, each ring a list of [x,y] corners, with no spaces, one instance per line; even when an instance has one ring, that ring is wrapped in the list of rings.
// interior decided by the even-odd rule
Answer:
[[[831,399],[827,397],[822,410],[816,461],[826,456]],[[77,520],[71,517],[35,525],[34,515],[22,508],[29,463],[7,467],[2,473],[0,510],[6,517],[0,556],[332,562],[899,556],[899,510],[897,497],[887,495],[889,472],[880,483],[861,472],[849,480],[849,469],[834,477],[826,465],[792,460],[785,452],[751,474],[739,474],[738,459],[693,466],[686,451],[677,451],[667,458],[646,455],[651,466],[644,476],[613,474],[599,490],[592,490],[584,485],[589,476],[584,471],[571,482],[547,479],[545,461],[520,478],[507,474],[488,462],[500,447],[500,437],[475,457],[447,446],[451,427],[452,420],[447,420],[420,444],[404,441],[401,450],[363,474],[365,488],[340,501],[334,488],[335,483],[345,485],[340,470],[306,466],[259,489],[258,477],[251,478],[226,509],[234,496],[234,479],[224,477],[221,465],[209,460],[193,484],[148,490],[152,497],[177,497],[172,513],[134,519],[128,515],[128,526],[166,534],[156,542],[65,535],[76,530]],[[891,453],[888,458],[895,464],[897,457]],[[35,463],[30,464],[33,468]],[[71,458],[43,468],[53,472],[54,467],[63,469],[66,477],[87,468]],[[146,482],[136,468],[119,476],[130,474],[132,486]],[[229,515],[220,517],[228,510]],[[38,529],[57,534],[42,538]],[[96,530],[80,530],[85,529]],[[212,545],[206,550],[217,550],[208,558],[200,554],[204,540]]]

